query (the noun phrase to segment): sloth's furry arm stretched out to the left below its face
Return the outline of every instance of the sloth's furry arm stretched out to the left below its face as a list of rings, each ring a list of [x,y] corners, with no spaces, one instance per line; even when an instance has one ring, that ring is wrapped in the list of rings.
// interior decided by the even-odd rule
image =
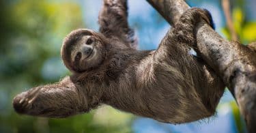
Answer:
[[[59,83],[34,87],[16,95],[13,106],[17,113],[41,117],[68,117],[87,112],[85,96],[79,95],[70,77]]]

